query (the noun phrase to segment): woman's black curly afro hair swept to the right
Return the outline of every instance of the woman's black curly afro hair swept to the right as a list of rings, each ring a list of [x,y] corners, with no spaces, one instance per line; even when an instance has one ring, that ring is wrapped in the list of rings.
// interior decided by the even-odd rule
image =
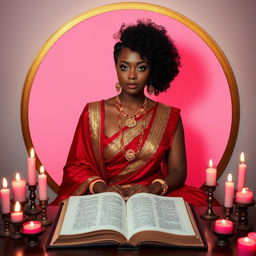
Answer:
[[[114,38],[119,40],[114,46],[115,63],[120,51],[129,48],[147,59],[150,65],[147,85],[154,87],[155,95],[170,87],[170,82],[179,73],[180,56],[163,26],[151,20],[138,20],[135,25],[123,24]]]

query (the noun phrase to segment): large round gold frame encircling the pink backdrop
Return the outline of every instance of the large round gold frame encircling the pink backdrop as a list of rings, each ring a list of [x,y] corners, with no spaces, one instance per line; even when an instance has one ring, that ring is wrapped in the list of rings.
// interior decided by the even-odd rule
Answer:
[[[238,134],[238,128],[239,128],[239,119],[240,119],[240,104],[239,104],[239,96],[238,96],[238,90],[237,90],[237,84],[236,80],[232,71],[232,68],[225,57],[222,50],[219,48],[217,43],[211,38],[211,36],[204,31],[200,26],[198,26],[196,23],[185,17],[184,15],[173,11],[171,9],[154,5],[154,4],[147,4],[147,3],[136,3],[136,2],[130,2],[130,3],[114,3],[114,4],[108,4],[104,6],[100,6],[98,8],[94,8],[92,10],[89,10],[68,23],[66,23],[63,27],[61,27],[59,30],[57,30],[43,45],[41,50],[39,51],[38,55],[36,56],[35,60],[33,61],[29,72],[27,74],[23,92],[22,92],[22,99],[21,99],[21,126],[22,126],[22,133],[24,142],[26,145],[26,149],[29,152],[30,148],[33,147],[30,129],[29,129],[29,120],[28,120],[28,106],[29,106],[29,96],[30,91],[33,85],[33,81],[36,75],[36,72],[40,66],[40,63],[42,62],[44,56],[47,54],[47,52],[50,50],[50,48],[54,45],[54,43],[68,30],[79,24],[80,22],[93,17],[98,14],[102,14],[105,12],[110,11],[118,11],[118,10],[125,10],[125,9],[132,9],[132,10],[145,10],[145,11],[152,11],[158,14],[162,14],[165,16],[168,16],[172,19],[177,20],[178,22],[184,24],[186,27],[194,31],[212,50],[212,52],[217,57],[219,63],[221,64],[221,67],[225,73],[228,85],[229,85],[229,91],[230,91],[230,97],[231,97],[231,103],[232,103],[232,122],[231,122],[231,130],[229,134],[228,143],[226,145],[224,154],[222,155],[221,160],[218,163],[217,169],[218,169],[218,175],[219,178],[222,172],[224,171],[225,167],[227,166],[229,159],[233,153],[235,142],[237,139]],[[41,165],[40,159],[37,156],[37,170],[39,170],[39,166]],[[51,178],[50,175],[48,175],[48,182],[50,187],[57,192],[59,185]]]

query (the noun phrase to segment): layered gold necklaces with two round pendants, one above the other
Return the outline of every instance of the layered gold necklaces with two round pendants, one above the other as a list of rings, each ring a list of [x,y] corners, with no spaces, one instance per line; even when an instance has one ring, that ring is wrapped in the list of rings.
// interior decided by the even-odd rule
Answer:
[[[143,137],[144,137],[144,128],[146,126],[146,111],[147,111],[147,98],[145,97],[145,101],[142,105],[142,107],[138,110],[138,112],[135,115],[130,115],[126,112],[126,110],[124,109],[119,97],[116,97],[116,109],[117,109],[117,114],[118,114],[118,124],[119,124],[119,130],[120,130],[120,148],[121,151],[123,152],[125,158],[127,161],[134,161],[136,160],[136,158],[138,157],[141,148],[142,148],[142,141],[143,141]],[[141,115],[143,115],[142,121],[141,121],[141,132],[140,132],[140,138],[139,138],[139,142],[137,145],[136,150],[133,149],[125,149],[124,146],[124,133],[123,133],[123,126],[122,126],[122,117],[121,115],[123,115],[126,120],[125,120],[125,125],[129,128],[133,128],[135,126],[137,126],[138,122],[136,120],[136,118],[140,117]]]

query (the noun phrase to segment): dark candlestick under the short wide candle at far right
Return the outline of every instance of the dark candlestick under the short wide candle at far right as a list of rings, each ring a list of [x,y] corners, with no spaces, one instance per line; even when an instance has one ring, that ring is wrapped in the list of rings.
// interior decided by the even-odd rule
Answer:
[[[238,223],[237,229],[242,231],[250,231],[253,229],[254,225],[249,223],[248,218],[248,208],[254,206],[255,201],[251,203],[237,203],[238,209]]]

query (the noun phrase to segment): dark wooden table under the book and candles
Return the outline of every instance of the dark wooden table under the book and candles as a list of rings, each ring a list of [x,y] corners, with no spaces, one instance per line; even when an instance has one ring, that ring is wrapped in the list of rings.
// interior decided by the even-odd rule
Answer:
[[[195,207],[195,212],[197,216],[204,213],[206,208]],[[222,208],[214,209],[219,216],[222,217]],[[48,207],[48,217],[54,220],[58,211],[57,206]],[[200,219],[200,218],[199,218]],[[251,208],[249,211],[249,219],[251,223],[254,223],[254,231],[256,231],[256,208]],[[232,245],[230,247],[221,248],[215,245],[216,237],[211,231],[211,221],[205,221],[200,219],[202,232],[205,235],[206,241],[208,243],[208,250],[197,250],[197,249],[180,249],[180,248],[171,248],[171,249],[159,249],[159,248],[143,248],[140,250],[118,250],[116,248],[72,248],[72,249],[45,249],[45,244],[49,237],[51,227],[46,228],[43,235],[40,237],[41,244],[29,248],[25,245],[24,240],[12,240],[11,238],[0,238],[0,255],[4,256],[37,256],[37,255],[47,255],[47,256],[77,256],[77,255],[120,255],[120,256],[138,256],[138,255],[147,255],[147,256],[169,256],[169,255],[236,255],[236,241],[238,237],[246,236],[248,232],[235,232],[234,236],[230,239]],[[3,229],[3,222],[0,222],[0,229]]]

